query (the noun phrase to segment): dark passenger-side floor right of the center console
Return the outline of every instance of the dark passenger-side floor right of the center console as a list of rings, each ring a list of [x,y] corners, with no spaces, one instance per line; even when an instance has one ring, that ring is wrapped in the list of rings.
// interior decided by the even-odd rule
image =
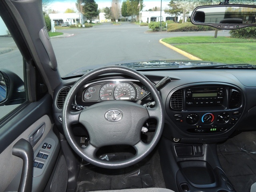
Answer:
[[[236,192],[250,192],[256,182],[256,132],[242,132],[217,145],[224,172]]]

